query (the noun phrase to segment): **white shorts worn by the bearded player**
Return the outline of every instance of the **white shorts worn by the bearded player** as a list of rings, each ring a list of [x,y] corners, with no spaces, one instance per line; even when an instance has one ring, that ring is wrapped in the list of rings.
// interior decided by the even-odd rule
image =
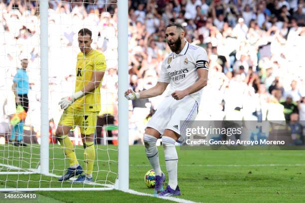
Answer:
[[[196,118],[197,113],[198,103],[191,96],[186,96],[182,100],[175,100],[171,96],[165,97],[153,113],[147,127],[157,130],[161,135],[165,129],[180,135],[180,131],[182,132],[183,128]]]

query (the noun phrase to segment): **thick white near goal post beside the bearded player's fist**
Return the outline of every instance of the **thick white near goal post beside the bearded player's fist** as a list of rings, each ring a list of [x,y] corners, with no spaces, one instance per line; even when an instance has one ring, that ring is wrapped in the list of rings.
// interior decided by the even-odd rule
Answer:
[[[119,190],[129,189],[128,101],[124,92],[128,74],[128,0],[118,0]]]

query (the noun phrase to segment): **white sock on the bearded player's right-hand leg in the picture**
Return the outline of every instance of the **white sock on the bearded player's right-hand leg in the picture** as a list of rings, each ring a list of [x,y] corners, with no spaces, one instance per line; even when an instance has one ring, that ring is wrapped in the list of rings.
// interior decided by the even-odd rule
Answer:
[[[177,163],[178,155],[175,147],[175,140],[171,137],[162,137],[164,149],[165,165],[168,173],[168,185],[171,189],[176,190],[178,185]]]

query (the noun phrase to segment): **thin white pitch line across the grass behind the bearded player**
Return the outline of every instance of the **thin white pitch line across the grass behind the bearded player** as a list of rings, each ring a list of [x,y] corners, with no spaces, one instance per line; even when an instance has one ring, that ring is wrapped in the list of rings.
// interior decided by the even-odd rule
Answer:
[[[131,167],[151,167],[149,164],[143,164],[143,165],[130,165]],[[165,165],[160,165],[165,166]],[[235,164],[228,164],[228,165],[210,165],[210,164],[178,164],[178,166],[184,166],[184,167],[190,167],[190,166],[196,166],[196,167],[274,167],[274,166],[305,166],[305,164],[250,164],[250,165],[235,165]]]

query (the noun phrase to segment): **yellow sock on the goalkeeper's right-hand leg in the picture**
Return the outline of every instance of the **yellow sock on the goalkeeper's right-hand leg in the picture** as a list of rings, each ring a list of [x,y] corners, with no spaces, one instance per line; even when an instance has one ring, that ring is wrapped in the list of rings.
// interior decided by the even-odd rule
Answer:
[[[85,161],[85,174],[88,178],[92,178],[93,164],[95,160],[95,147],[94,142],[84,143],[84,161]]]

